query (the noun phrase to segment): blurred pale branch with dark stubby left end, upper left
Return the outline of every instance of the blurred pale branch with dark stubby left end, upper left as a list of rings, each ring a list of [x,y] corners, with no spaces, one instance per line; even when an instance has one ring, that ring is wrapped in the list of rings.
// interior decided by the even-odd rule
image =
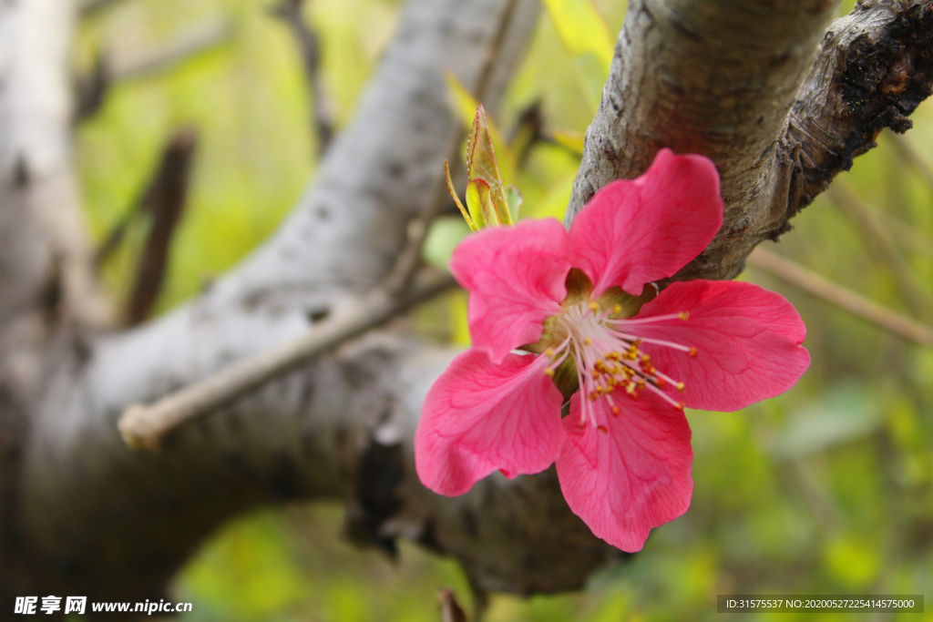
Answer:
[[[112,1],[112,0],[111,0]],[[175,65],[215,48],[230,38],[233,28],[225,18],[212,18],[188,26],[160,48],[133,55],[100,52],[91,73],[77,78],[75,122],[92,117],[104,105],[106,94],[117,82],[155,76]]]

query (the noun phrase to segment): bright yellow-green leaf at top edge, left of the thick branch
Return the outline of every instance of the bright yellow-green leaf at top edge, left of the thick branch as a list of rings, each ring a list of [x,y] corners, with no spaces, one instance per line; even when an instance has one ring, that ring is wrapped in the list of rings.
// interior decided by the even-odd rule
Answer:
[[[592,0],[544,0],[544,6],[574,60],[580,87],[595,112],[609,76],[615,38]]]

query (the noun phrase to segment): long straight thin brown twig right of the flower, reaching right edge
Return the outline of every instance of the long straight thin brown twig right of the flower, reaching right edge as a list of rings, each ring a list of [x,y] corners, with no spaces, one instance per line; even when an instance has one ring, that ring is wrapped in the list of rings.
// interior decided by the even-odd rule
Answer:
[[[898,337],[933,348],[933,328],[856,294],[839,283],[833,283],[795,261],[759,247],[748,256],[748,263],[800,287],[815,297],[879,325]]]

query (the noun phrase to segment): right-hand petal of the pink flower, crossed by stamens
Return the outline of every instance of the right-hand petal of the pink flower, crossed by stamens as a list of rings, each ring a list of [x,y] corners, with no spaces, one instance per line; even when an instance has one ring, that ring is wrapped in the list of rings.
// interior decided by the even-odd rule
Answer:
[[[689,408],[745,408],[784,393],[810,366],[810,352],[801,346],[806,326],[780,294],[752,283],[672,283],[637,318],[679,311],[689,311],[689,318],[626,330],[638,337],[697,349],[693,357],[650,343],[642,345],[654,366],[685,383],[683,400]]]

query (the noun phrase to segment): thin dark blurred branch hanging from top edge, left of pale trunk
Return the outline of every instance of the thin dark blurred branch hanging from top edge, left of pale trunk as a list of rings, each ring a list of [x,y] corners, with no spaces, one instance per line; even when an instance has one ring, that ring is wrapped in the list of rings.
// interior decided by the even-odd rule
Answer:
[[[313,111],[314,142],[317,145],[317,154],[320,156],[327,151],[333,138],[334,122],[327,105],[321,76],[320,39],[304,19],[303,8],[304,0],[281,0],[279,4],[270,9],[270,12],[288,25],[298,44]]]

